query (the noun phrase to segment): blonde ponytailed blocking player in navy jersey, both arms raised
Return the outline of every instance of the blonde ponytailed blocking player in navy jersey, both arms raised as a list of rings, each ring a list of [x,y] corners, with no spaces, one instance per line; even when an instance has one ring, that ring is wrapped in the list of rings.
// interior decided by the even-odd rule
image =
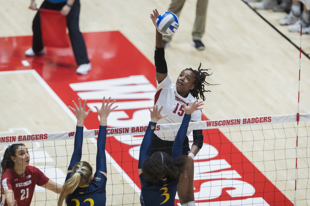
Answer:
[[[111,97],[105,104],[105,97],[102,101],[102,107],[97,109],[100,116],[100,126],[97,139],[97,157],[96,157],[96,172],[93,176],[91,165],[86,161],[81,161],[82,144],[83,144],[83,125],[84,120],[89,112],[85,111],[86,101],[83,107],[81,100],[79,106],[73,104],[69,108],[74,111],[77,118],[77,127],[74,137],[74,150],[68,167],[68,174],[63,186],[62,193],[59,196],[58,206],[61,206],[65,200],[68,206],[76,205],[91,205],[104,206],[106,202],[106,183],[107,183],[107,165],[105,158],[105,140],[107,134],[107,118],[110,112],[116,107],[111,108],[115,100],[110,103]]]

